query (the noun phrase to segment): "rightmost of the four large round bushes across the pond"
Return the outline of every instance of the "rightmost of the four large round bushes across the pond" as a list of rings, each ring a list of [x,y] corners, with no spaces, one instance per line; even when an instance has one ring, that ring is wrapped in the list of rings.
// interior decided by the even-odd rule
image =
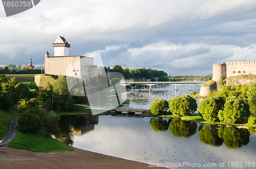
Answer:
[[[231,99],[231,98],[230,98]],[[219,119],[227,123],[238,123],[243,117],[250,115],[249,105],[243,100],[229,100],[224,104],[223,112],[219,112]],[[223,115],[221,114],[223,113]]]

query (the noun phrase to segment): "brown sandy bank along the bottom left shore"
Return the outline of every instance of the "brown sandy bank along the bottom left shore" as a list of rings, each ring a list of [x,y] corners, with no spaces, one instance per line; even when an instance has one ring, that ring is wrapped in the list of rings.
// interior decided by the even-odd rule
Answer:
[[[34,153],[3,146],[0,147],[0,168],[150,168],[137,161],[74,150]]]

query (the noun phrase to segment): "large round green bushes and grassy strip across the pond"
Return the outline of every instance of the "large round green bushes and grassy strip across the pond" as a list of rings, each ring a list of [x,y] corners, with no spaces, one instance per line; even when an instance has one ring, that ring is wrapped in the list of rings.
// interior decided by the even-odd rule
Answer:
[[[159,111],[155,114],[159,117],[179,117],[198,123],[256,127],[256,118],[250,116],[249,104],[237,96],[228,96],[225,100],[218,95],[209,96],[200,102],[199,115],[193,115],[197,104],[189,95],[175,96],[168,103],[169,112]]]

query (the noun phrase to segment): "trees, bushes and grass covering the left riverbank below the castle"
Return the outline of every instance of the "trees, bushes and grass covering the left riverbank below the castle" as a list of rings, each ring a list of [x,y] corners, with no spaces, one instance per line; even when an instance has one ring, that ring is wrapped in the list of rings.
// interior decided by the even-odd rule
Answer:
[[[65,96],[67,99],[68,95],[65,80],[64,77],[60,77],[55,88],[48,84],[46,92],[38,92],[38,87],[34,82],[20,83],[15,77],[8,81],[5,75],[0,75],[0,138],[6,136],[10,122],[17,113],[14,105],[19,104],[16,137],[8,143],[9,146],[34,152],[73,150],[66,144],[51,138],[52,134],[60,132],[59,115],[53,111],[46,113],[37,100],[39,98],[46,103],[47,105],[44,106],[48,106],[50,110],[58,110],[59,106],[62,106],[59,103],[62,104],[65,101],[61,99]],[[70,98],[70,95],[68,97]],[[52,100],[55,100],[55,105],[58,106],[54,106]],[[74,106],[74,102],[71,103]],[[64,110],[70,110],[66,104],[64,106]]]

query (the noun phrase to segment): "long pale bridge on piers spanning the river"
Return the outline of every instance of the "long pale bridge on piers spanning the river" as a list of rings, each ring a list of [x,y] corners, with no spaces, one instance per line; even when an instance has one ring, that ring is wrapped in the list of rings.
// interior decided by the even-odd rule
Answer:
[[[134,80],[122,80],[120,81],[120,85],[122,86],[129,86],[132,84],[142,84],[142,85],[147,85],[150,86],[150,91],[152,90],[151,87],[154,85],[158,85],[158,84],[171,84],[171,85],[175,85],[175,94],[177,95],[177,91],[178,91],[178,85],[181,84],[198,84],[198,85],[202,85],[206,83],[206,81],[171,81],[171,82],[144,82],[144,81],[140,81],[140,82],[135,82]]]

